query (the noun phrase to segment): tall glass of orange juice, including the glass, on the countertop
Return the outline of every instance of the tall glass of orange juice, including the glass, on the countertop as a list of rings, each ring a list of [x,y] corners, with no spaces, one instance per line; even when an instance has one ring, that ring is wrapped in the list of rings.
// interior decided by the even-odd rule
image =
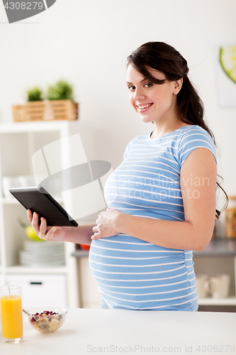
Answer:
[[[23,340],[21,286],[0,287],[1,336],[6,343]]]

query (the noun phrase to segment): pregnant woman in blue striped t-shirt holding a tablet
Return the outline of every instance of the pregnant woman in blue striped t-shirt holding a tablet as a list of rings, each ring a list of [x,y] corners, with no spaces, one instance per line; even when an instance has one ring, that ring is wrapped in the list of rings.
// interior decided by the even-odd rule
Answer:
[[[128,57],[130,104],[154,129],[128,143],[96,224],[50,228],[42,218],[39,226],[28,211],[40,238],[91,244],[102,307],[198,309],[192,251],[206,248],[220,212],[215,141],[188,72],[166,43],[145,43]]]

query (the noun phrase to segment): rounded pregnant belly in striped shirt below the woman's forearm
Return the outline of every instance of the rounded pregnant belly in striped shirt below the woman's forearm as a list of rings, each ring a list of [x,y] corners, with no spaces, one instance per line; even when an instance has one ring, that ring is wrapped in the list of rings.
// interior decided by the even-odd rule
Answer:
[[[185,251],[124,234],[92,241],[89,266],[101,295],[113,307],[153,309],[191,290]]]

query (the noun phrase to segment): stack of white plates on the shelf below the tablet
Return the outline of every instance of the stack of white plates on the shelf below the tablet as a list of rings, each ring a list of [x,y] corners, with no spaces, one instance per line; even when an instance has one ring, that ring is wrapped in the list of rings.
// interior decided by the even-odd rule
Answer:
[[[24,241],[19,252],[22,266],[63,266],[64,261],[63,241]]]

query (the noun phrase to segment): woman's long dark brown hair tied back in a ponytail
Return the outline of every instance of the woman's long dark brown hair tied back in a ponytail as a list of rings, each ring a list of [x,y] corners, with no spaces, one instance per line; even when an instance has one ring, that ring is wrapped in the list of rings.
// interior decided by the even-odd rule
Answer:
[[[183,78],[181,90],[177,94],[177,116],[186,124],[201,126],[208,132],[215,144],[213,132],[210,131],[203,118],[203,102],[189,80],[188,63],[174,47],[163,42],[147,42],[137,48],[127,59],[128,65],[132,65],[143,77],[154,84],[164,84],[166,80],[172,82]],[[162,72],[166,80],[158,80],[150,73],[149,68]],[[216,184],[223,190],[218,182]],[[223,192],[225,193],[226,203],[221,212],[228,204],[227,194],[225,190]],[[219,218],[221,212],[216,209],[215,217]]]

